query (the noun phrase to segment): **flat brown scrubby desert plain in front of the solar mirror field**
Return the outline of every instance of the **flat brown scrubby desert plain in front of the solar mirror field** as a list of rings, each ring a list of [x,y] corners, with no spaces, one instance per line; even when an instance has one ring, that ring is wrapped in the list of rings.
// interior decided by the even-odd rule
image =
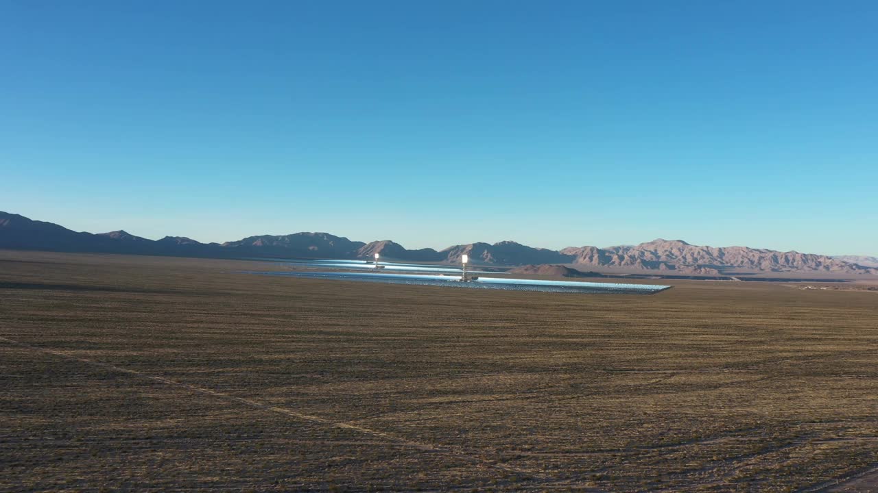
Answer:
[[[0,251],[0,491],[878,490],[878,292]]]

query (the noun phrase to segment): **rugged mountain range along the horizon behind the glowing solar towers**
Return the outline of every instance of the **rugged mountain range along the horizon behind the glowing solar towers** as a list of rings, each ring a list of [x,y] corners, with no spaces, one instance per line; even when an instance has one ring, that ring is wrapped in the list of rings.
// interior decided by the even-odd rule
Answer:
[[[680,239],[655,239],[634,246],[528,247],[515,241],[470,243],[443,250],[408,250],[391,240],[352,241],[327,232],[250,236],[226,243],[200,243],[166,236],[152,240],[125,231],[75,232],[61,225],[0,211],[0,248],[55,252],[154,254],[215,258],[369,259],[374,254],[399,261],[459,263],[464,254],[474,263],[498,266],[558,264],[600,268],[654,270],[687,275],[717,275],[743,269],[760,272],[832,272],[878,275],[878,259],[777,252],[750,247],[701,247]],[[870,262],[872,262],[870,264]]]

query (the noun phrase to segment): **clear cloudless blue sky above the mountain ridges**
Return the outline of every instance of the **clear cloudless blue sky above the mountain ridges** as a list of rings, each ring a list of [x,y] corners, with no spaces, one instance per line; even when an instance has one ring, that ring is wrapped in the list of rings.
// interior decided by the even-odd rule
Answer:
[[[878,254],[878,2],[0,0],[0,211]]]

